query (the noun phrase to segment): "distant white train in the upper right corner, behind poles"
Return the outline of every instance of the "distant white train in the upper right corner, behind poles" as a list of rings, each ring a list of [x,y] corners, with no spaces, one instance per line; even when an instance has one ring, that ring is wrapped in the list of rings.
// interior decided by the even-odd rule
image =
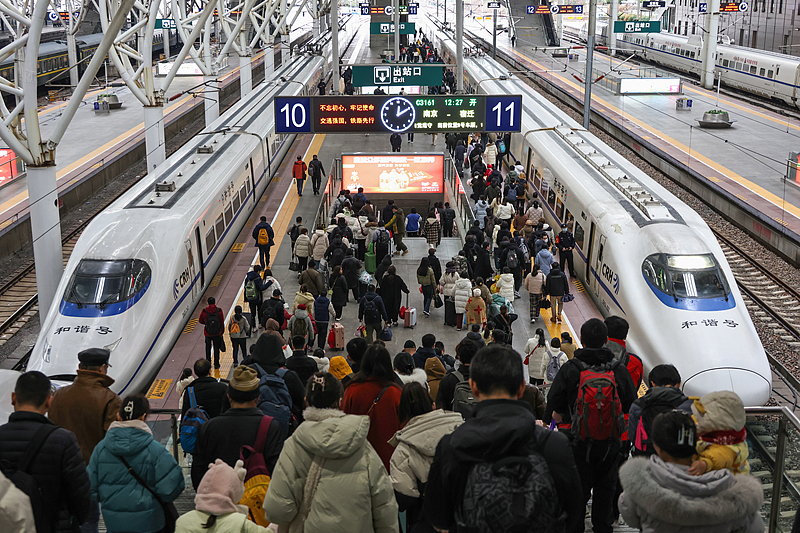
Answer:
[[[586,42],[586,22],[567,22],[564,35]],[[608,25],[597,24],[599,45],[606,44]],[[622,33],[617,36],[637,56],[666,67],[700,76],[703,59],[702,36],[683,36],[674,33]],[[717,45],[714,77],[722,83],[763,98],[780,100],[800,107],[800,57],[735,46],[723,36]],[[618,44],[618,46],[621,46]]]

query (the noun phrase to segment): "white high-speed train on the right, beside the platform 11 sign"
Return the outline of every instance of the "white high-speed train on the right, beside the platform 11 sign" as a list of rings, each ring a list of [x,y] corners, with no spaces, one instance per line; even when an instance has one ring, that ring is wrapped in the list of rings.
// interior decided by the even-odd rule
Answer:
[[[436,36],[454,53],[449,36]],[[578,277],[604,316],[630,323],[629,349],[646,370],[671,363],[689,395],[727,389],[746,405],[766,403],[764,348],[703,219],[491,58],[464,63],[470,87],[522,95],[510,152],[548,222],[573,225]]]

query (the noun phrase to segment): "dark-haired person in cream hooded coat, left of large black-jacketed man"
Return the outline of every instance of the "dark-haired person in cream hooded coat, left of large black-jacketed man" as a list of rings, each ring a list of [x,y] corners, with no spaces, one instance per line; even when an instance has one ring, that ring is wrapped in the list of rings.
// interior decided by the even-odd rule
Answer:
[[[404,531],[433,531],[423,515],[428,472],[439,440],[464,419],[460,413],[434,409],[428,391],[417,383],[403,387],[399,417],[403,428],[389,441],[395,447],[389,468],[398,507],[406,513]]]

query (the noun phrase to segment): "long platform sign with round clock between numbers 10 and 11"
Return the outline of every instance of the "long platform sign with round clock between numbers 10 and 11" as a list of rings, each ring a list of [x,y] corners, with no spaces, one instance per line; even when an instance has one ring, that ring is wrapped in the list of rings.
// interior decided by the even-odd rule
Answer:
[[[522,97],[278,96],[274,112],[277,133],[520,131]]]

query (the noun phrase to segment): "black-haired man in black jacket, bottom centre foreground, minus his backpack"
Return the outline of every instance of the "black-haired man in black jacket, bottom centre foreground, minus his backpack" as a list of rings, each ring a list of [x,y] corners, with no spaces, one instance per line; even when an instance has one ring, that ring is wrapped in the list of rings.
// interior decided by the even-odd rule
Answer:
[[[470,388],[478,404],[472,417],[436,447],[425,489],[427,522],[439,531],[458,531],[456,513],[472,467],[536,451],[553,479],[557,515],[566,519],[568,530],[582,530],[585,505],[575,498],[580,478],[567,437],[537,426],[530,404],[519,400],[525,390],[520,355],[509,346],[490,345],[480,350],[470,367]],[[443,378],[440,393],[444,384]]]

